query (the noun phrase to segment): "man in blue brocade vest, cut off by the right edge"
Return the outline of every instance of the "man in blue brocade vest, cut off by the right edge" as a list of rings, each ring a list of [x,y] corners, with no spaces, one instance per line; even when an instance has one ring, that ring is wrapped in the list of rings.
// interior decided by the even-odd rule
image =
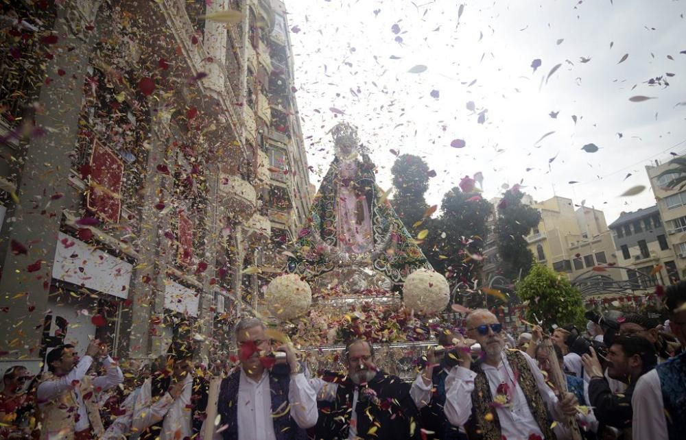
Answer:
[[[665,289],[670,329],[686,347],[686,281]],[[634,439],[683,439],[686,432],[686,352],[641,376],[631,399]]]

